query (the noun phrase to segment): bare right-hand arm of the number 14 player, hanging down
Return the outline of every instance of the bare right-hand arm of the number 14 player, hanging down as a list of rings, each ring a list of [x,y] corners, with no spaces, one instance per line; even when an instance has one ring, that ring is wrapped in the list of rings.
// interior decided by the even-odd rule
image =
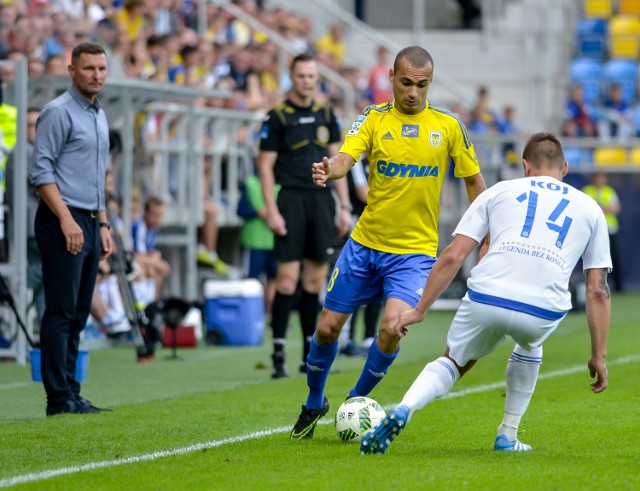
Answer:
[[[588,269],[585,271],[587,280],[587,322],[591,334],[591,358],[587,363],[591,378],[596,381],[591,384],[594,393],[607,388],[608,377],[605,365],[607,355],[607,336],[611,316],[611,294],[607,285],[606,269]]]

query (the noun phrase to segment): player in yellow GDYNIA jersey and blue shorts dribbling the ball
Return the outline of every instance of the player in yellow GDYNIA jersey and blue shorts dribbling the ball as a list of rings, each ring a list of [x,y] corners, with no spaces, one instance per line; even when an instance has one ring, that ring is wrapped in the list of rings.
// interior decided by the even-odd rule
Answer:
[[[433,59],[418,46],[401,50],[389,71],[394,100],[369,106],[340,152],[312,166],[317,186],[339,179],[369,156],[367,207],[331,274],[324,308],[307,357],[309,395],[290,437],[312,438],[329,411],[324,395],[342,326],[357,306],[386,300],[378,338],[349,397],[366,396],[398,354],[391,321],[413,308],[438,251],[440,191],[450,159],[473,201],[486,185],[460,118],[427,102]]]

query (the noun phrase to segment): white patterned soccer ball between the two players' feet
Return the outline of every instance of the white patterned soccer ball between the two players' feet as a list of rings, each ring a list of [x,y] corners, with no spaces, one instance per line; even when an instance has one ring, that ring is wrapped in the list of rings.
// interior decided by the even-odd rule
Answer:
[[[336,431],[340,440],[359,442],[368,430],[380,423],[386,413],[382,406],[368,397],[351,397],[336,413]]]

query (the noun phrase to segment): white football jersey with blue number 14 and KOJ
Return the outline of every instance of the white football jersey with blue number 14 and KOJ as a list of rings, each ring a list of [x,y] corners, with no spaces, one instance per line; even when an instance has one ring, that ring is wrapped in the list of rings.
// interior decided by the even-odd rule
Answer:
[[[552,177],[497,183],[474,200],[453,235],[480,242],[487,232],[489,251],[467,281],[470,298],[477,293],[482,303],[553,318],[546,314],[571,309],[569,277],[580,257],[583,269],[611,268],[602,210]]]

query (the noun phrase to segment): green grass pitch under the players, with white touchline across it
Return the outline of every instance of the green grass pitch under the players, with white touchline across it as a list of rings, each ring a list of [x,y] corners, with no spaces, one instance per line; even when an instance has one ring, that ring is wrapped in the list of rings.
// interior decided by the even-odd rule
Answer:
[[[333,416],[363,358],[339,357],[332,408],[311,441],[288,432],[306,397],[301,341],[289,332],[287,380],[270,379],[261,346],[160,350],[135,363],[133,348],[91,353],[83,395],[113,412],[46,418],[29,367],[0,364],[0,487],[37,490],[640,489],[640,295],[614,296],[609,388],[589,390],[589,335],[572,313],[545,343],[540,379],[520,438],[527,454],[493,452],[502,419],[506,342],[449,397],[418,412],[385,455],[339,440]],[[434,312],[401,344],[371,397],[397,404],[439,356],[452,312]],[[292,316],[292,321],[296,315]],[[362,326],[357,334],[361,336]]]

